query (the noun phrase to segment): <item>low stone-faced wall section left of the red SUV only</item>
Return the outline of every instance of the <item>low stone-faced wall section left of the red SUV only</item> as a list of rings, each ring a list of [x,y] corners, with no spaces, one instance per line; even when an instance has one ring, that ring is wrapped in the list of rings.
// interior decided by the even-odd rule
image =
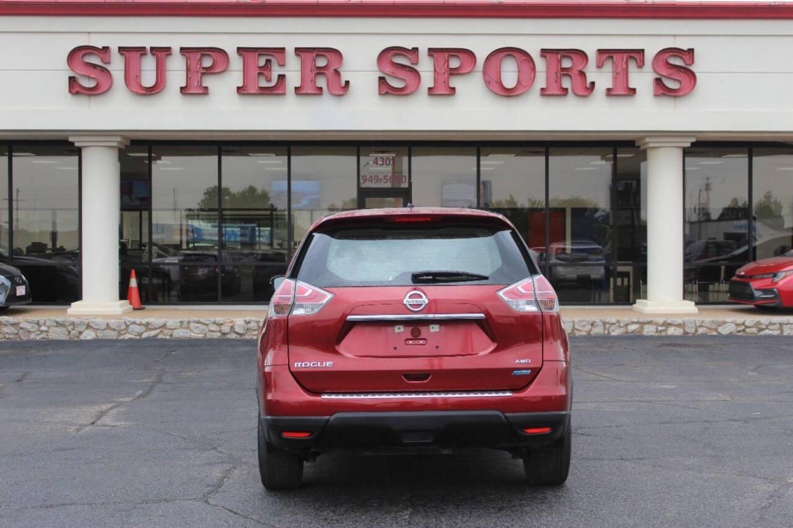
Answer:
[[[0,317],[0,339],[256,339],[259,319],[17,319]]]

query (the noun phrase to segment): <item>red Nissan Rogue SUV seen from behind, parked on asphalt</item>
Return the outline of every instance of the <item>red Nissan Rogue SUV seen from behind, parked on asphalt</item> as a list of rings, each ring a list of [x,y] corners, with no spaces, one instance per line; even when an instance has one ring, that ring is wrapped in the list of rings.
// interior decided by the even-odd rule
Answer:
[[[506,450],[533,484],[570,464],[572,381],[554,289],[504,216],[340,212],[310,228],[259,336],[259,471],[305,461]]]

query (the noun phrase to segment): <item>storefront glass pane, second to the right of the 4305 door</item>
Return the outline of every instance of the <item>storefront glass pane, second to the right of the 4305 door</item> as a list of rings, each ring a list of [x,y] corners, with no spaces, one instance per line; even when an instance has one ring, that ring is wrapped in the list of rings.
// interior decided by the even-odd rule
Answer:
[[[482,147],[480,207],[511,220],[534,253],[544,262],[545,147]]]

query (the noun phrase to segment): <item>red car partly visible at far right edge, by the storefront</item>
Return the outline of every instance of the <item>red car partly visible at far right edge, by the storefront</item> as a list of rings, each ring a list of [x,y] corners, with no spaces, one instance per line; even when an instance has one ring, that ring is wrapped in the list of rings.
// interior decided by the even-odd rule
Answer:
[[[730,300],[758,308],[793,308],[793,251],[738,268]]]

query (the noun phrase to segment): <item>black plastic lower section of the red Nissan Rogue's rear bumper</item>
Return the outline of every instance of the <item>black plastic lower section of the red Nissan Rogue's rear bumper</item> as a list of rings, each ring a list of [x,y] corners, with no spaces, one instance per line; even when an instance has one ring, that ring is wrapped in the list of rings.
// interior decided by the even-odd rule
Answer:
[[[340,412],[332,416],[260,418],[267,442],[285,450],[400,452],[546,446],[565,434],[569,411],[504,414],[500,411]],[[527,427],[550,432],[526,434]],[[284,433],[310,434],[284,438]]]

